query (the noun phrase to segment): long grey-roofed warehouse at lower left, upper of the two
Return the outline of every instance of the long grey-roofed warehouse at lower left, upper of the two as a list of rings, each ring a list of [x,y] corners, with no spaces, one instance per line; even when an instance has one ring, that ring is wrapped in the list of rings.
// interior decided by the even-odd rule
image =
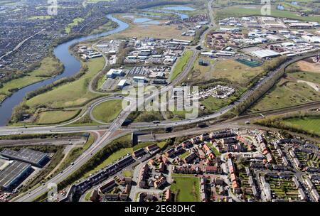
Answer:
[[[19,151],[4,149],[1,156],[6,158],[31,163],[33,166],[41,167],[48,162],[48,155],[40,151],[33,151],[28,148],[21,148]]]

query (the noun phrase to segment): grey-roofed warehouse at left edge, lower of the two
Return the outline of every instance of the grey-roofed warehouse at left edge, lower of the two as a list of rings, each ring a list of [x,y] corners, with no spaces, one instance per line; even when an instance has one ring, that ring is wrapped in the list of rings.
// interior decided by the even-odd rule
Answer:
[[[0,172],[0,188],[4,190],[16,188],[32,171],[29,163],[14,161]]]

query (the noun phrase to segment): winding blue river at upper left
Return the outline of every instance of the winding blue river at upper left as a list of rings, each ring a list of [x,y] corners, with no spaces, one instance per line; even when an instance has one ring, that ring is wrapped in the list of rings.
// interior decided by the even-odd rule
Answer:
[[[14,94],[11,95],[11,97],[6,98],[4,102],[0,104],[0,126],[5,126],[8,123],[9,119],[11,118],[12,110],[14,109],[14,107],[16,107],[16,105],[20,104],[23,101],[23,97],[25,97],[26,94],[28,94],[28,92],[32,92],[33,90],[37,90],[38,88],[43,87],[44,85],[49,85],[55,82],[56,80],[60,80],[63,77],[70,77],[79,72],[81,64],[79,60],[77,60],[71,53],[69,53],[70,45],[82,41],[87,41],[92,38],[99,38],[102,36],[111,35],[113,33],[118,33],[120,31],[124,31],[124,29],[129,27],[127,23],[124,23],[119,19],[114,18],[112,14],[107,15],[107,18],[110,18],[112,21],[117,22],[119,26],[111,31],[105,31],[103,33],[98,33],[92,36],[84,36],[81,38],[73,39],[71,41],[58,45],[53,50],[55,57],[58,58],[60,62],[63,63],[63,65],[65,65],[65,69],[63,70],[63,72],[60,75],[52,77],[48,80],[43,80],[41,82],[36,82],[27,87],[23,87],[21,88],[21,90],[14,92]]]

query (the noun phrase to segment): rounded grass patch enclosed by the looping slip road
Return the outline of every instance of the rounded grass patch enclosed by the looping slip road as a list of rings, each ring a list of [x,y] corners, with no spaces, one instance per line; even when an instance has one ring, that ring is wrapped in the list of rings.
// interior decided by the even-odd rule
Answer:
[[[122,100],[114,99],[97,105],[92,114],[95,119],[103,122],[113,121],[122,111]]]

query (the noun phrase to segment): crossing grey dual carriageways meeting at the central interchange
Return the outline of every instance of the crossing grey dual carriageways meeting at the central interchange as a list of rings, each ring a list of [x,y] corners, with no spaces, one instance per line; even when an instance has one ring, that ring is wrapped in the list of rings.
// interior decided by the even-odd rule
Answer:
[[[212,11],[211,4],[213,3],[213,0],[211,0],[208,3],[208,10]],[[213,26],[214,18],[210,16],[210,26]],[[210,28],[207,30],[210,31]],[[200,45],[203,44],[204,35],[206,33],[203,33],[203,36],[201,37]],[[222,109],[218,110],[218,112],[215,112],[214,114],[207,115],[206,117],[198,117],[196,119],[184,119],[180,121],[162,121],[159,124],[150,124],[150,123],[139,123],[139,124],[132,124],[131,126],[127,127],[126,129],[123,129],[121,126],[125,119],[129,116],[129,114],[132,112],[133,108],[142,106],[143,103],[153,100],[156,97],[159,97],[159,94],[164,94],[170,90],[178,83],[183,80],[186,75],[188,75],[188,72],[193,67],[193,63],[198,57],[199,50],[196,50],[196,46],[191,48],[193,50],[193,55],[191,58],[189,58],[187,65],[183,68],[183,71],[176,77],[175,80],[170,82],[165,87],[162,87],[159,92],[155,92],[152,95],[148,95],[144,97],[143,100],[139,100],[136,102],[132,99],[129,99],[131,102],[128,107],[122,110],[118,117],[112,121],[111,124],[104,124],[101,126],[65,126],[66,124],[60,124],[60,125],[53,125],[53,126],[34,126],[34,127],[0,127],[0,136],[3,135],[10,135],[10,134],[50,134],[50,133],[71,133],[71,132],[88,132],[88,131],[97,131],[97,130],[106,130],[105,134],[102,136],[98,136],[98,138],[95,140],[95,142],[88,148],[82,155],[77,158],[74,161],[73,166],[68,166],[68,168],[65,168],[65,170],[62,173],[58,173],[58,175],[55,175],[53,178],[50,179],[50,183],[59,183],[65,178],[68,177],[68,175],[72,174],[74,171],[76,171],[78,168],[83,166],[90,158],[92,158],[95,153],[100,151],[102,148],[104,148],[107,144],[110,143],[110,141],[117,139],[119,136],[123,136],[124,134],[129,134],[132,131],[137,131],[139,129],[152,129],[152,128],[164,128],[164,127],[171,127],[171,126],[183,126],[187,124],[196,124],[201,121],[208,121],[210,119],[215,119],[217,117],[220,117],[221,115],[225,114],[226,112],[230,111],[230,109],[233,109],[237,104],[244,101],[248,97],[250,97],[253,92],[260,89],[262,85],[264,85],[270,78],[274,77],[274,75],[278,75],[278,73],[283,72],[285,68],[287,68],[288,65],[298,61],[302,60],[304,58],[312,57],[316,54],[305,54],[296,58],[292,58],[292,60],[287,61],[286,63],[282,64],[277,70],[274,70],[272,72],[269,72],[269,74],[264,77],[262,80],[260,80],[254,87],[252,87],[250,90],[247,90],[244,94],[241,95],[240,99],[238,99],[237,102],[234,104],[230,104],[227,107],[223,107]],[[85,114],[92,112],[92,109],[97,106],[98,104],[105,102],[110,99],[123,99],[122,96],[109,96],[109,97],[102,97],[100,99],[97,99],[97,101],[93,102],[87,109],[85,110]],[[81,114],[80,117],[78,117],[76,120],[82,118],[85,114]],[[92,114],[91,114],[92,116]],[[75,120],[73,120],[75,122]],[[68,122],[70,124],[70,122]],[[230,126],[239,126],[238,124],[235,124],[235,122],[228,122],[227,124],[219,124],[220,126],[230,127]],[[121,130],[121,131],[120,131]],[[180,133],[181,134],[181,133]],[[48,183],[45,183],[44,185],[41,185],[38,188],[35,188],[33,190],[30,190],[28,193],[22,195],[19,198],[16,198],[15,201],[32,201],[36,199],[39,195],[42,195],[43,193],[46,193],[48,191]]]

